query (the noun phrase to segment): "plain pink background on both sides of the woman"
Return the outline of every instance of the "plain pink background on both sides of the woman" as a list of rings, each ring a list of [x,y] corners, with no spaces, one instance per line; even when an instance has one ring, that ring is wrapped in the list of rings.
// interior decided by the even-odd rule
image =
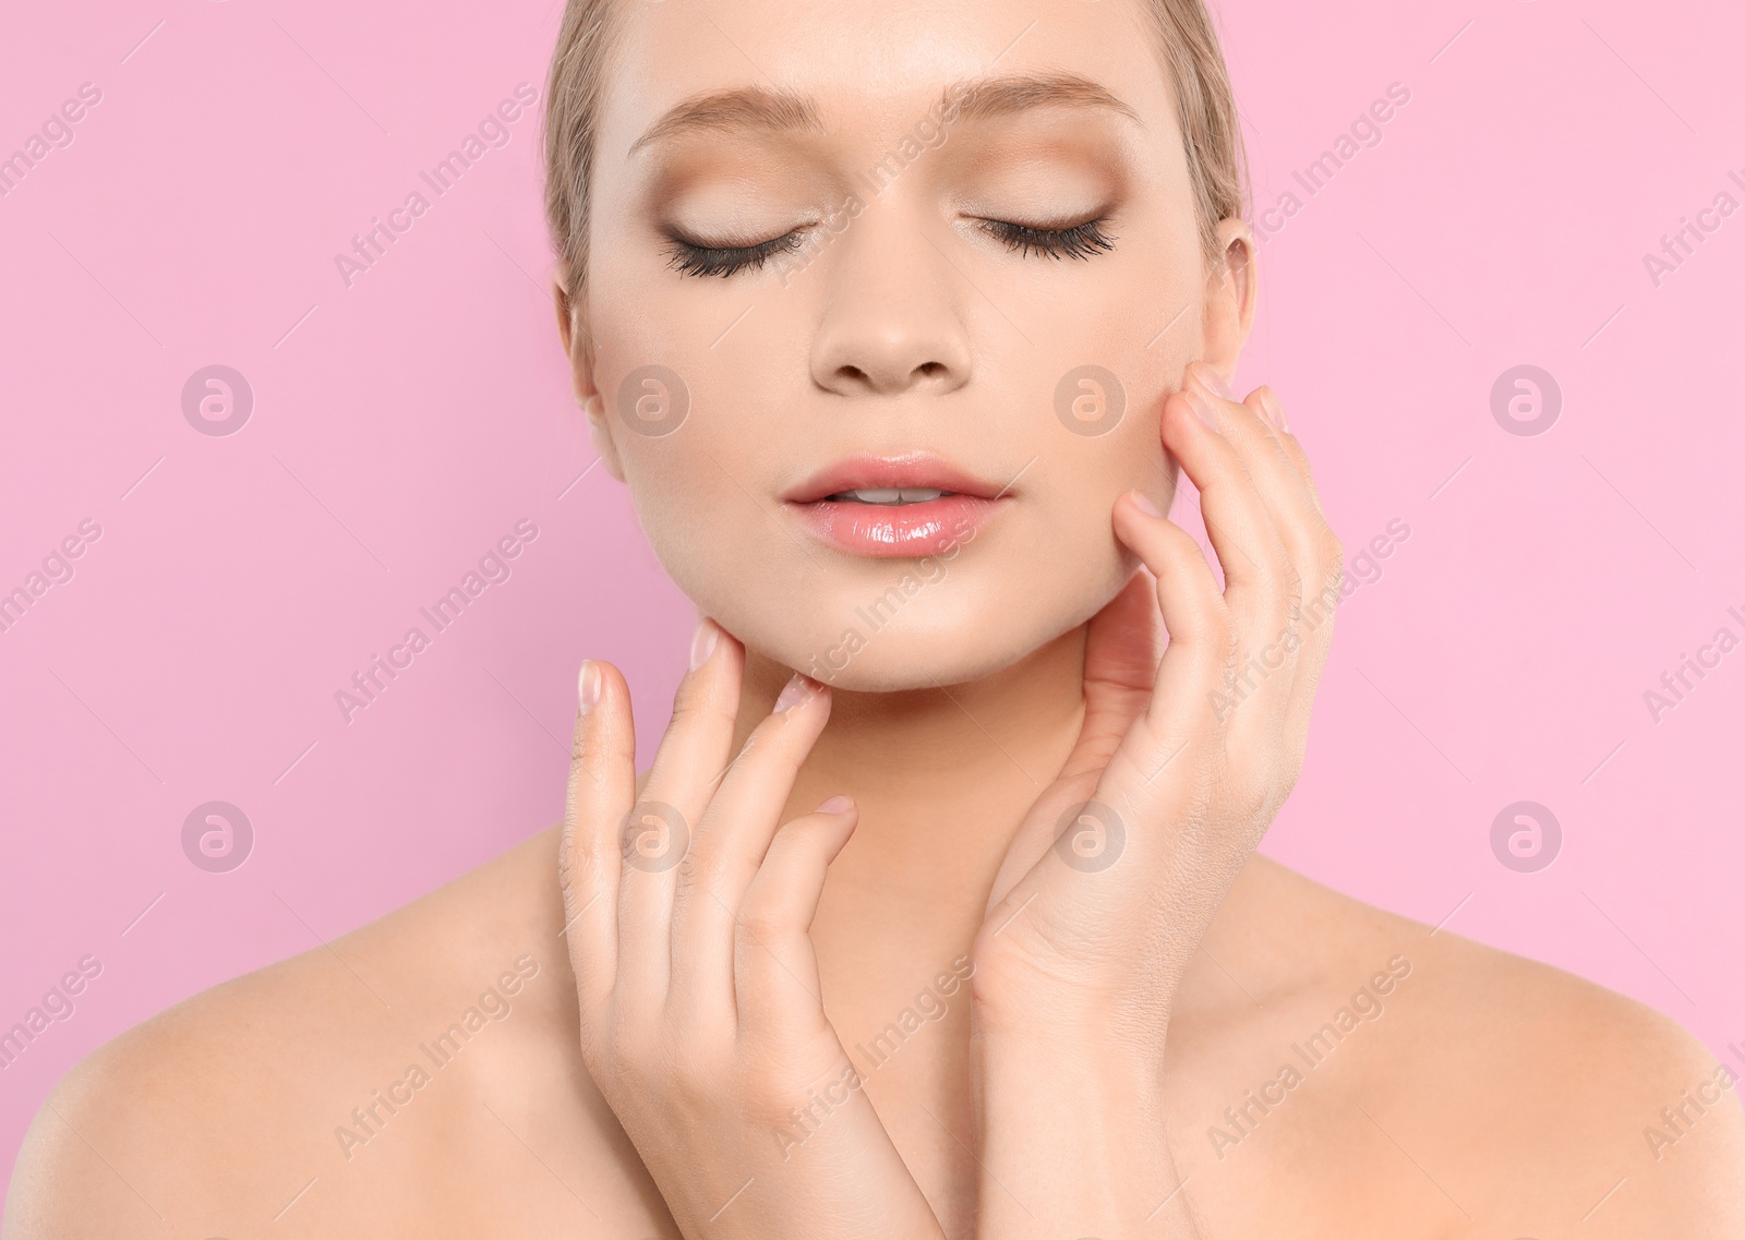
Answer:
[[[557,19],[555,0],[0,16],[0,155],[80,84],[103,92],[0,197],[0,589],[82,520],[103,530],[0,633],[0,1029],[103,961],[0,1073],[0,1167],[92,1046],[553,823],[585,654],[626,670],[646,738],[665,722],[691,609],[621,487],[581,476],[537,115],[351,288],[333,263],[518,82],[543,94]],[[1642,694],[1721,626],[1745,637],[1726,610],[1745,614],[1745,215],[1658,288],[1642,256],[1719,192],[1745,202],[1742,10],[1222,19],[1256,208],[1304,201],[1262,246],[1241,378],[1284,394],[1352,555],[1410,527],[1345,602],[1265,849],[1726,1053],[1745,651],[1659,722]],[[1293,169],[1393,82],[1412,99],[1380,145],[1307,195]],[[181,412],[213,363],[255,392],[223,438]],[[1544,434],[1492,417],[1522,363],[1562,389]],[[539,534],[513,576],[347,724],[335,691],[522,518]],[[206,801],[253,821],[241,869],[183,855]],[[1548,869],[1492,853],[1515,801],[1562,823]]]

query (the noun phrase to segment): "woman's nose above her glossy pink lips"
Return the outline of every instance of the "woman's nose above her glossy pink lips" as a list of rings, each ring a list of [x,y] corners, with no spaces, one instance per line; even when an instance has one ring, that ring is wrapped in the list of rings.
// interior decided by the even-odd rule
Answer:
[[[839,396],[946,394],[970,378],[970,340],[946,256],[899,204],[874,201],[834,239],[811,375]]]

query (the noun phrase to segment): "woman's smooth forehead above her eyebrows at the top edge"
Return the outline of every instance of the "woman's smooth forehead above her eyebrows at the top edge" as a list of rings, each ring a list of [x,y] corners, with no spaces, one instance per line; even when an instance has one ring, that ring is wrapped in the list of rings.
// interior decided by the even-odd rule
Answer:
[[[597,131],[607,169],[684,105],[750,87],[785,101],[714,108],[717,127],[853,133],[909,127],[965,82],[1045,78],[1056,103],[1122,110],[1176,131],[1148,0],[619,0]],[[1101,98],[1099,98],[1101,96]],[[991,96],[984,96],[986,103]],[[1007,110],[1024,99],[1002,98]],[[773,122],[773,124],[771,124]]]

